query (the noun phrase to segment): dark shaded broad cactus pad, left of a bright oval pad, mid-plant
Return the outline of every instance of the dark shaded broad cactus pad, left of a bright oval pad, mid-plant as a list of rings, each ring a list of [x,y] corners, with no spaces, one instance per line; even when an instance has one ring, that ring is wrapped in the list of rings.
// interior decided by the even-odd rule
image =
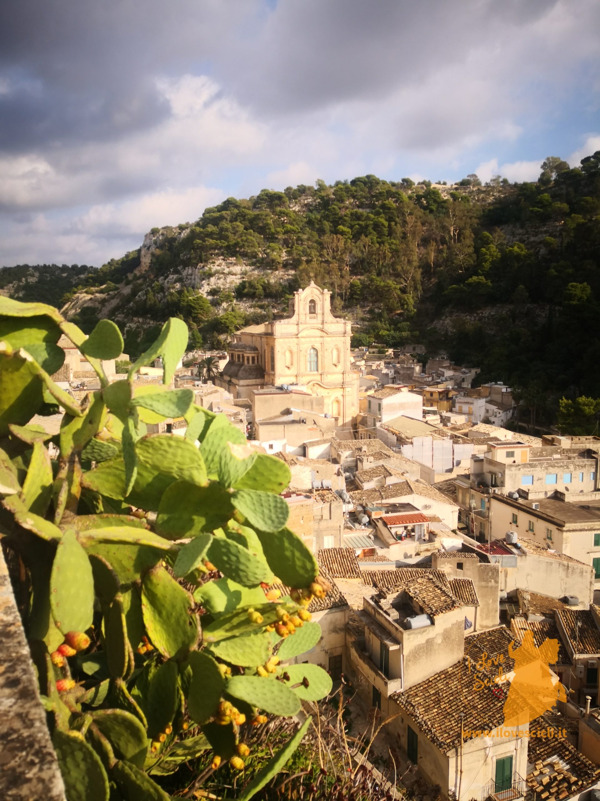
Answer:
[[[233,513],[230,495],[218,484],[198,487],[175,481],[162,495],[156,530],[170,540],[197,537],[221,528]]]

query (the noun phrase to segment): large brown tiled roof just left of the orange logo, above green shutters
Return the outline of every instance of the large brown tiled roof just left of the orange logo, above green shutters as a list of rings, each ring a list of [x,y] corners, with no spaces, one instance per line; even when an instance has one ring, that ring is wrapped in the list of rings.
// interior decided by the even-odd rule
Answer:
[[[492,693],[490,687],[475,689],[469,676],[469,662],[477,663],[484,651],[502,654],[502,667],[508,673],[514,663],[508,654],[512,642],[510,632],[498,629],[471,634],[465,638],[466,656],[455,665],[442,670],[426,681],[390,697],[414,719],[424,734],[442,751],[459,747],[461,722],[466,739],[471,731],[495,729],[504,721],[504,698]],[[494,678],[490,674],[490,678]],[[464,718],[461,718],[464,714]]]

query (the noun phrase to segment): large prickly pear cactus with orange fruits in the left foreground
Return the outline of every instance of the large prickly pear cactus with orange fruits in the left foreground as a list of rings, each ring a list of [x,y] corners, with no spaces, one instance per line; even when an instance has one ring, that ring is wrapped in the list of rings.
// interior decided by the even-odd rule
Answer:
[[[50,377],[61,336],[98,375],[81,402]],[[86,336],[50,306],[0,297],[0,536],[30,594],[24,625],[68,801],[165,799],[155,779],[209,750],[214,769],[230,759],[240,770],[246,715],[291,717],[331,689],[318,666],[281,665],[318,642],[306,607],[326,591],[286,528],[290,470],[192,390],[170,389],[186,344],[186,325],[168,320],[111,384],[102,362],[122,352],[116,325]],[[158,356],[162,386],[136,386]],[[59,409],[58,435],[30,424]],[[184,437],[148,433],[173,419]],[[279,601],[274,581],[291,598]]]

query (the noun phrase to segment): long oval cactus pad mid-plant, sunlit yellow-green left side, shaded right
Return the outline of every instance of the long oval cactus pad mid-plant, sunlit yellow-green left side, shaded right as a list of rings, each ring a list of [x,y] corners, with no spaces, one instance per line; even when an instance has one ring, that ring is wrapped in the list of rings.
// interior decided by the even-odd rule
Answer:
[[[142,615],[148,636],[169,658],[185,654],[198,642],[194,599],[161,566],[149,570],[142,582]]]

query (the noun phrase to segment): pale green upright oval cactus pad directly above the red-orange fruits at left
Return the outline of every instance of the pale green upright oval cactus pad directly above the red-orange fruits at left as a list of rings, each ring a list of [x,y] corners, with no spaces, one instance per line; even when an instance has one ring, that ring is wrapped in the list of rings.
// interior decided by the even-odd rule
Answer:
[[[85,550],[67,531],[56,546],[50,574],[50,607],[58,630],[85,631],[94,614],[94,577]]]

